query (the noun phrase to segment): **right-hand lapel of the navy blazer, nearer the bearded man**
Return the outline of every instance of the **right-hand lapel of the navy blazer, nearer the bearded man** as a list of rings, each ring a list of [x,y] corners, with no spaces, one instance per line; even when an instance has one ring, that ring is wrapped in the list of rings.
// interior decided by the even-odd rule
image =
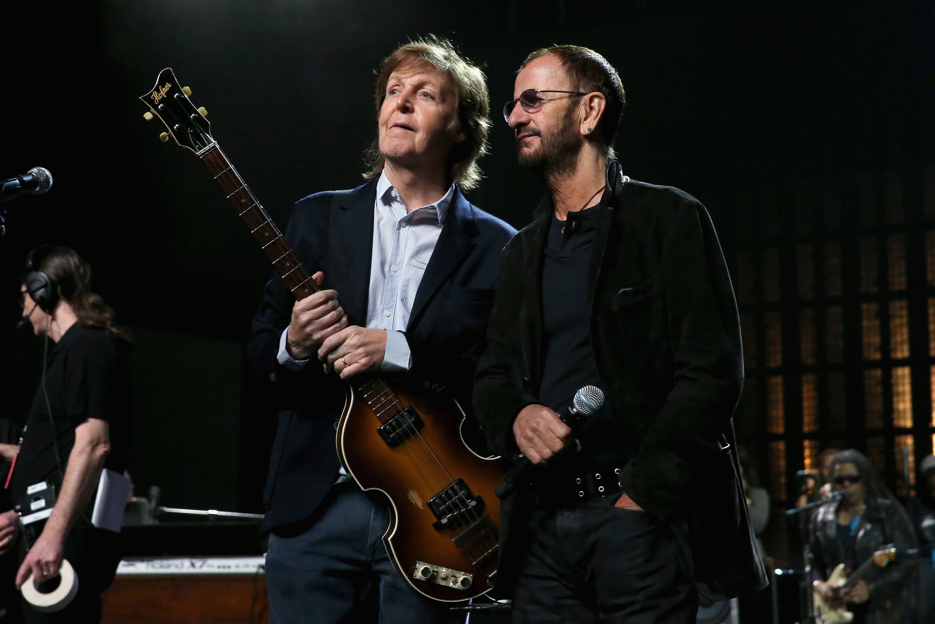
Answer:
[[[474,247],[471,238],[477,236],[477,233],[474,210],[465,196],[461,194],[461,189],[455,188],[452,204],[445,217],[445,224],[441,228],[439,240],[435,243],[435,250],[428,260],[422,282],[416,290],[407,329],[415,326],[425,304]]]

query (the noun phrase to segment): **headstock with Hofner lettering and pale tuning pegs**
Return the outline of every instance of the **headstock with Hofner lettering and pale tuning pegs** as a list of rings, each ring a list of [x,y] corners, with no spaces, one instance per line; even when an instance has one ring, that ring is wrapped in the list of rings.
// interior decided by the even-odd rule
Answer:
[[[159,135],[163,141],[169,137],[180,146],[192,152],[202,152],[214,144],[211,138],[211,124],[208,122],[208,110],[195,108],[189,96],[192,90],[181,87],[171,67],[159,72],[159,78],[150,93],[141,96],[150,111],[143,115],[146,121],[158,118],[165,123],[167,132]]]

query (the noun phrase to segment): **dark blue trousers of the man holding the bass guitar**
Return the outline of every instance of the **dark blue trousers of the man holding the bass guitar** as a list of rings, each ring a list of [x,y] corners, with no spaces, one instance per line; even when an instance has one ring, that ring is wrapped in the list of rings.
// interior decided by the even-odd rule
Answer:
[[[274,530],[266,551],[270,624],[464,622],[463,612],[425,598],[396,572],[382,542],[388,526],[377,495],[342,483],[309,522]],[[365,601],[372,590],[379,615]]]

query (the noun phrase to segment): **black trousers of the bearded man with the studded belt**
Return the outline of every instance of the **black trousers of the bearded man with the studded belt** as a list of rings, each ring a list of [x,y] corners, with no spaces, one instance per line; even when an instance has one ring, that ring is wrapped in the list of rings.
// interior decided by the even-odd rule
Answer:
[[[669,525],[617,509],[618,498],[533,512],[514,623],[695,622],[698,593],[683,572]]]

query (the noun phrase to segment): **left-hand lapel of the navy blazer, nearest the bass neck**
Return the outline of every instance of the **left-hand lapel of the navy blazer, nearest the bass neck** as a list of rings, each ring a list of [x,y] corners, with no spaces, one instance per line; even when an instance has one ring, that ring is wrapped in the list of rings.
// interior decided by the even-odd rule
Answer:
[[[329,239],[332,275],[329,285],[352,325],[367,326],[370,260],[373,257],[374,201],[377,180],[335,198]]]

